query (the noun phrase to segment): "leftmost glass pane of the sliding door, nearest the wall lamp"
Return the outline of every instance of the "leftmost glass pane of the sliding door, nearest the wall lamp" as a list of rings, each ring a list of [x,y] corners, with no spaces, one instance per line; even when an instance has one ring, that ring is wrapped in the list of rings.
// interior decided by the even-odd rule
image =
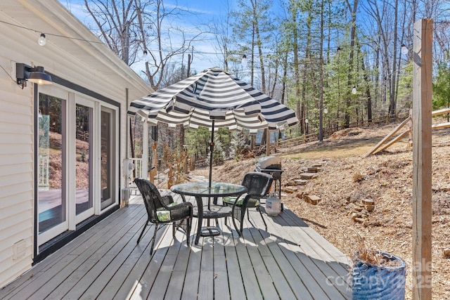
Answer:
[[[43,93],[39,94],[39,117],[37,121],[39,234],[55,228],[67,220],[64,185],[64,115],[65,100]]]

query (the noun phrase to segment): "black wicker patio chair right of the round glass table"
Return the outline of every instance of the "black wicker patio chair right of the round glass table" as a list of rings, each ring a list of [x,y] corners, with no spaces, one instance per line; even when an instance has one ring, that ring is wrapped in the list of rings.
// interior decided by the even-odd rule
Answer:
[[[224,197],[224,204],[233,205],[231,213],[233,225],[240,236],[242,236],[245,211],[248,211],[249,208],[256,208],[257,211],[259,211],[262,221],[264,222],[264,226],[267,228],[266,221],[264,220],[262,211],[259,208],[259,200],[269,194],[273,181],[274,178],[270,174],[262,172],[249,172],[245,174],[242,183],[240,183],[248,189],[247,194],[242,195],[242,197]],[[250,221],[250,216],[248,214],[247,217]],[[240,222],[239,228],[236,225],[236,220]]]

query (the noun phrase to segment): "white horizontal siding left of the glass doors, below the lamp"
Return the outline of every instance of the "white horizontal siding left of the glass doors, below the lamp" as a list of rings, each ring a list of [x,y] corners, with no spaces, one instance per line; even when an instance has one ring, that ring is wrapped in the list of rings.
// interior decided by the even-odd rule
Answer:
[[[11,60],[0,64],[13,72]],[[32,89],[22,90],[0,70],[0,286],[30,268],[33,246]],[[25,240],[24,256],[13,245]]]

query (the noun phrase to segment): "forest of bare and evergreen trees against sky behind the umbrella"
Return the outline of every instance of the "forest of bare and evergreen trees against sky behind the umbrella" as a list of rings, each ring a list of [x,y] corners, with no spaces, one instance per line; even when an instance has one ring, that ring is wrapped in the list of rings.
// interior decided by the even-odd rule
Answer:
[[[209,41],[215,65],[295,110],[300,122],[288,137],[314,133],[321,140],[408,115],[413,24],[432,19],[433,110],[450,105],[447,1],[222,1],[222,14],[211,20],[167,2],[84,1],[95,20],[89,27],[131,67],[143,63],[141,74],[155,90],[201,72],[195,60],[211,53],[196,45]],[[193,16],[195,24],[174,22]],[[180,145],[198,152],[199,139],[208,143],[205,131],[189,134],[195,143]],[[231,145],[226,130],[218,138]]]

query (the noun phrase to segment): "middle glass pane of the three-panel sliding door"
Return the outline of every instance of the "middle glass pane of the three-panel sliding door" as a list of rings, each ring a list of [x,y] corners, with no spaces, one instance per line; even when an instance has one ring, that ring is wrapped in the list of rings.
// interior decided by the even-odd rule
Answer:
[[[75,204],[76,214],[93,208],[92,201],[92,111],[91,107],[77,104],[75,138]]]

